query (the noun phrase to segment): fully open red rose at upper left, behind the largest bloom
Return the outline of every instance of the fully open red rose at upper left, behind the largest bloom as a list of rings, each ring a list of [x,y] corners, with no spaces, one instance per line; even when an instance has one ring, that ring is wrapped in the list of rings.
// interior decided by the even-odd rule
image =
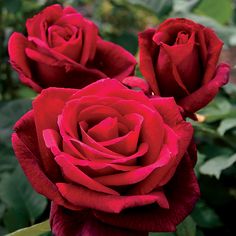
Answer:
[[[82,88],[101,78],[132,75],[135,58],[102,40],[96,25],[72,7],[52,5],[27,20],[28,36],[13,33],[10,62],[22,83],[40,92],[47,87]]]

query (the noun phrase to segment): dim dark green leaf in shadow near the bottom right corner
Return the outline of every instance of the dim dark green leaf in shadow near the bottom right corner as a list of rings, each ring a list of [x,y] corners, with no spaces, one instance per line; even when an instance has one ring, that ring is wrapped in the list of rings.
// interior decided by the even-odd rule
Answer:
[[[191,215],[200,227],[216,228],[222,226],[219,216],[204,201],[197,202]]]

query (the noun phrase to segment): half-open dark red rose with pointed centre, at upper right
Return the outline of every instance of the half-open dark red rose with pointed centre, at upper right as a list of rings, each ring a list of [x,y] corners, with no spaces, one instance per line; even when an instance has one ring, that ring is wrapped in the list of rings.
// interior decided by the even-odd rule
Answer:
[[[140,70],[157,95],[173,96],[188,112],[206,106],[229,79],[217,62],[222,41],[187,19],[168,19],[139,34]]]

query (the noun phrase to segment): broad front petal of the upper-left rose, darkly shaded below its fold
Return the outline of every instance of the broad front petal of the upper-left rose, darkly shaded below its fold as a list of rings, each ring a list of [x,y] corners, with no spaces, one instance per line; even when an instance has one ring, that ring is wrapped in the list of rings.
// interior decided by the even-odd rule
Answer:
[[[26,48],[26,55],[31,59],[33,77],[43,88],[69,87],[82,88],[98,79],[106,77],[97,69],[86,68],[67,56],[50,49],[37,38],[29,38],[36,48]]]

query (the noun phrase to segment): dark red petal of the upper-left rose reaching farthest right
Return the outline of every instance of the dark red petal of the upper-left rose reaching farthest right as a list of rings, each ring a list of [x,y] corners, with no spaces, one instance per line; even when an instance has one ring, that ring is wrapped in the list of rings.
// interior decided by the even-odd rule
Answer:
[[[95,68],[101,70],[107,77],[122,80],[134,74],[136,60],[119,45],[98,39],[93,63]]]

